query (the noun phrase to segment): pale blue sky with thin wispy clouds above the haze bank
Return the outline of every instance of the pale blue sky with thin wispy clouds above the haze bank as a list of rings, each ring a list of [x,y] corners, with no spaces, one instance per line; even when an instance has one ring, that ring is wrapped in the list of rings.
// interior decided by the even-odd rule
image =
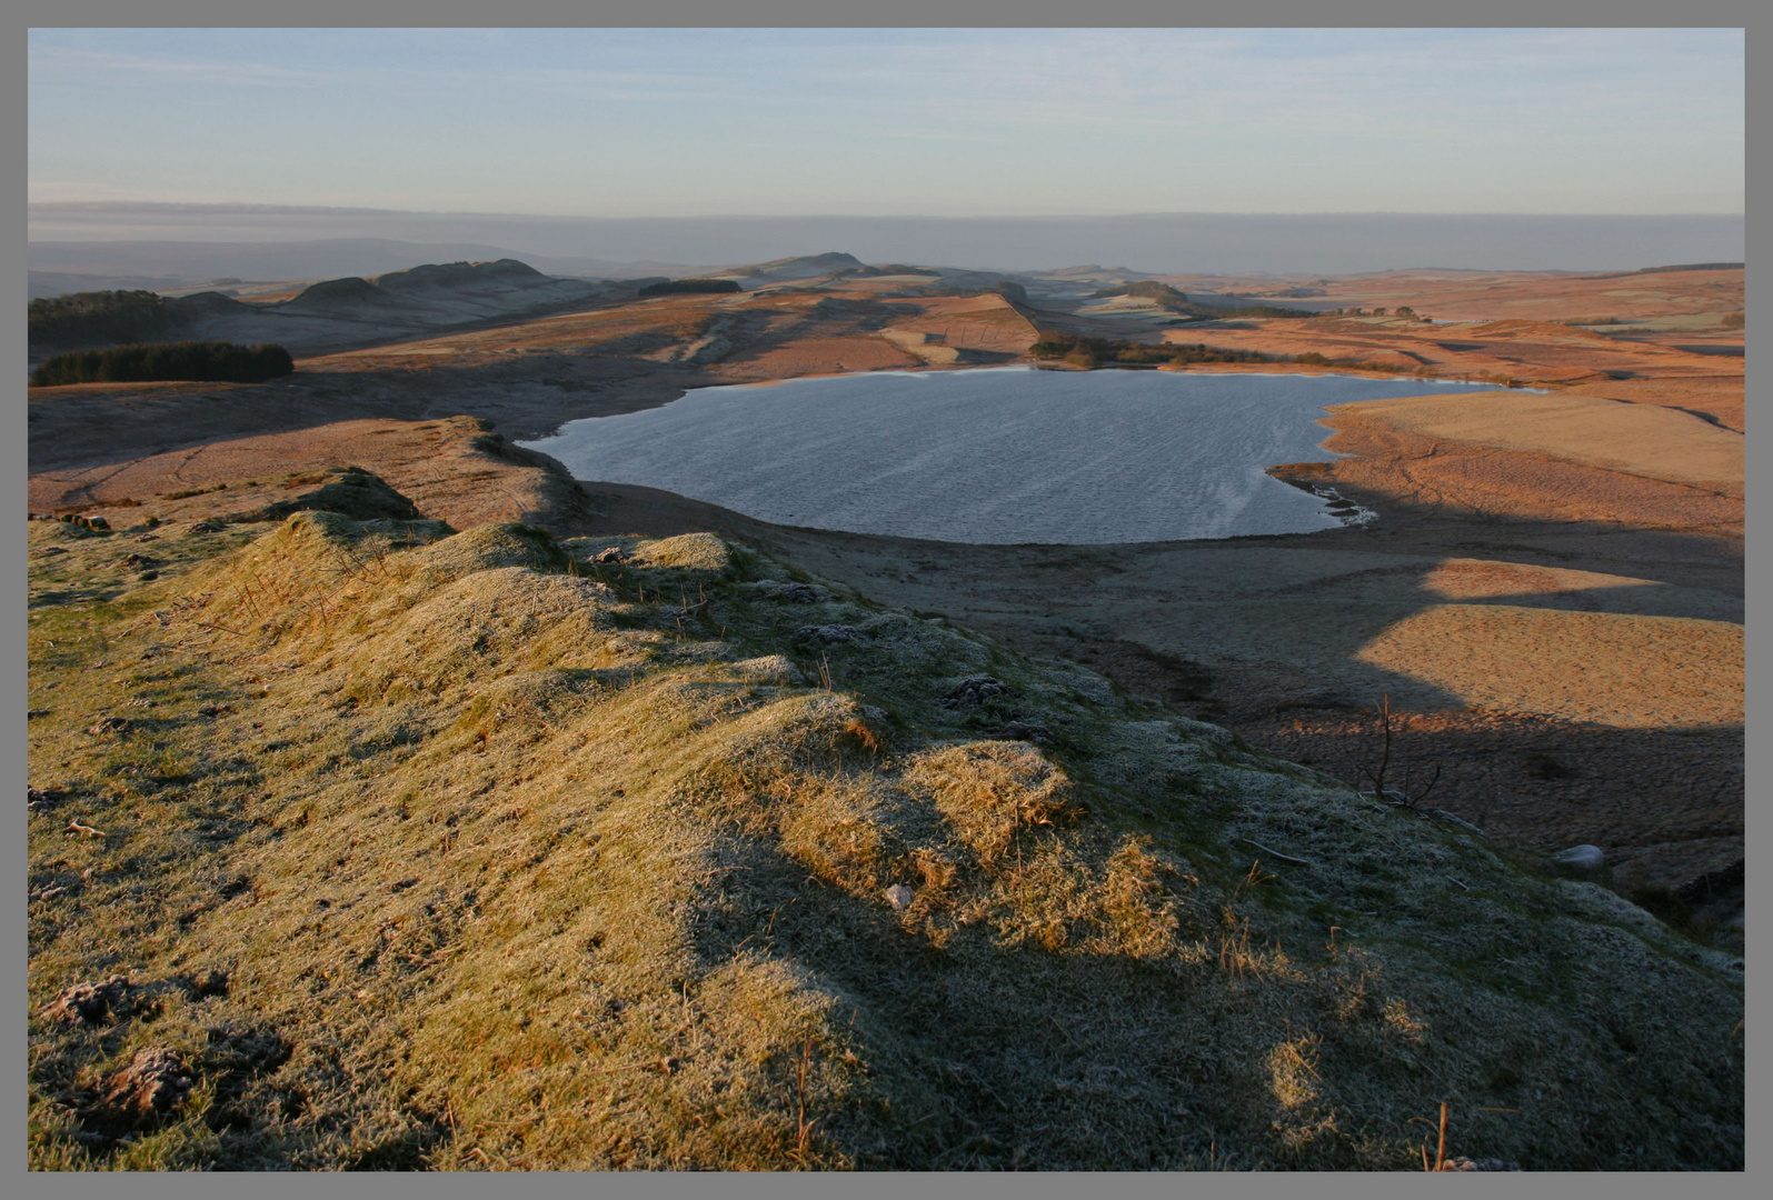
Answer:
[[[1736,214],[1743,30],[30,32],[30,200]]]

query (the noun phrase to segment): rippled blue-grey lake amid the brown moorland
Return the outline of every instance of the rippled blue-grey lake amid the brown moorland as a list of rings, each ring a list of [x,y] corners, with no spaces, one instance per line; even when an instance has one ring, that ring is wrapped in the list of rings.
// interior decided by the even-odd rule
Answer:
[[[1486,385],[1493,386],[1493,385]],[[697,388],[525,445],[576,479],[775,521],[950,542],[1144,542],[1335,528],[1264,475],[1323,461],[1328,404],[1484,390],[1351,376],[869,372]]]

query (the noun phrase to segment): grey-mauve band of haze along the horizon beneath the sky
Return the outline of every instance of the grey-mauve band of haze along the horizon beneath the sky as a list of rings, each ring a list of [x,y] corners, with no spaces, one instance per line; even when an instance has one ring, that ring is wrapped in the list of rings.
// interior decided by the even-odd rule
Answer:
[[[112,275],[307,278],[511,255],[534,259],[532,266],[550,273],[596,273],[621,264],[668,273],[665,268],[672,264],[729,266],[842,250],[865,262],[995,271],[1090,262],[1152,275],[1599,271],[1738,262],[1745,257],[1745,218],[1730,214],[558,218],[110,202],[32,204],[30,266]]]

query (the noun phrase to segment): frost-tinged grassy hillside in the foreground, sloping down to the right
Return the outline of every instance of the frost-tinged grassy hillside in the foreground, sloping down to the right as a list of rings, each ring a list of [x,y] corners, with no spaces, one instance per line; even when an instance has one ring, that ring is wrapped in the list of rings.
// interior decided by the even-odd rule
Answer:
[[[32,523],[32,1010],[165,984],[32,1017],[34,1166],[1743,1163],[1716,955],[1078,666],[707,535],[161,534]]]

